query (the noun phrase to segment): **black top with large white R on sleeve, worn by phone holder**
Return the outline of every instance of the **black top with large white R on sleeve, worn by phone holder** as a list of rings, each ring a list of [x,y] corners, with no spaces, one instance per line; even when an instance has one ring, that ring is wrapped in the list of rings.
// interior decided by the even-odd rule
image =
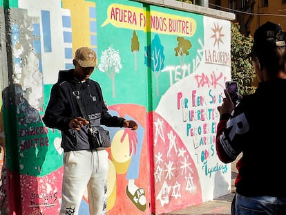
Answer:
[[[261,82],[232,115],[218,123],[216,149],[222,162],[236,163],[242,196],[286,197],[286,80]]]

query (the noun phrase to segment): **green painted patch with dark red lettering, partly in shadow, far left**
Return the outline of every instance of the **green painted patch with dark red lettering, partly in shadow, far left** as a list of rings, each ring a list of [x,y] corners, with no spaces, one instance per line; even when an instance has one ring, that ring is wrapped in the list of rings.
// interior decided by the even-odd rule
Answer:
[[[50,91],[50,86],[46,90]],[[38,120],[30,120],[26,111],[38,116]],[[2,109],[7,168],[10,171],[29,176],[45,176],[62,166],[62,151],[54,143],[55,138],[60,137],[60,132],[47,129],[44,122],[41,122],[41,114],[28,102],[8,105]]]

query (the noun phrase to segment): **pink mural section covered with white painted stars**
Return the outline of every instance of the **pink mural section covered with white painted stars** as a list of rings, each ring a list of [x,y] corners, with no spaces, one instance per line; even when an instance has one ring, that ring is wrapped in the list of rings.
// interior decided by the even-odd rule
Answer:
[[[150,114],[156,214],[202,203],[198,170],[187,147],[164,118]]]

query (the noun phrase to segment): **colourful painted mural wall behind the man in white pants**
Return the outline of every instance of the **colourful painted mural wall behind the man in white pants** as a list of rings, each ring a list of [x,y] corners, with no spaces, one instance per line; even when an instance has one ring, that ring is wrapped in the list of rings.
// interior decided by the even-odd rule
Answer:
[[[126,0],[0,3],[2,212],[59,213],[61,134],[41,117],[80,46],[97,53],[91,78],[110,113],[139,124],[110,129],[107,214],[160,214],[230,193],[231,166],[215,147],[231,78],[229,20]],[[87,194],[79,214],[88,214]]]

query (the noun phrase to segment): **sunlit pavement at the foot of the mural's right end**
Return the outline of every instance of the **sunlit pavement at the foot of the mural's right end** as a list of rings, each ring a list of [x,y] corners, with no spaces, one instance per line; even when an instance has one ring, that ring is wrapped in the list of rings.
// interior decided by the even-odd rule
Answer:
[[[240,156],[238,156],[238,159],[240,159]],[[216,198],[200,205],[192,205],[184,209],[160,215],[231,215],[231,201],[236,190],[234,187],[234,180],[236,180],[238,172],[236,169],[236,161],[231,163],[231,194]]]

